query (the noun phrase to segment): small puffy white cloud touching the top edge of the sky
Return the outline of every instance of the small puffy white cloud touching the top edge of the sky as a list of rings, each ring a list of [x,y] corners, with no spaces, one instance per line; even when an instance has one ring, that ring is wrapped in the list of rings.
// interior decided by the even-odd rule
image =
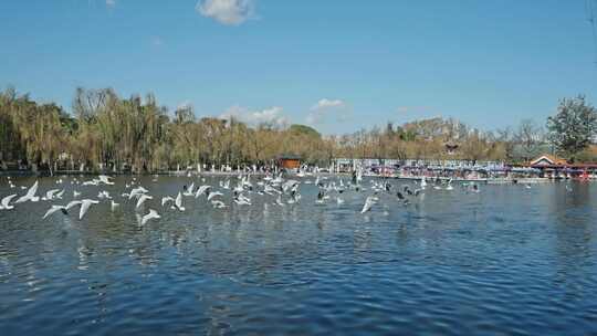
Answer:
[[[239,25],[253,13],[253,0],[199,0],[195,9],[222,24]]]

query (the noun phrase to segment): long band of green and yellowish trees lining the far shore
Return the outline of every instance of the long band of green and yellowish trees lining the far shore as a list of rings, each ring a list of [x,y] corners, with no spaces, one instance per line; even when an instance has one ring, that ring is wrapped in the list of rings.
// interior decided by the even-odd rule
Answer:
[[[472,128],[430,118],[323,136],[305,125],[248,125],[234,117],[198,118],[191,106],[169,112],[153,94],[124,98],[112,88],[77,88],[72,114],[9,87],[0,93],[0,164],[29,169],[156,172],[197,165],[274,165],[281,155],[306,164],[335,158],[465,159],[524,162],[553,151],[597,160],[590,149],[597,111],[585,97],[562,99],[545,127]]]

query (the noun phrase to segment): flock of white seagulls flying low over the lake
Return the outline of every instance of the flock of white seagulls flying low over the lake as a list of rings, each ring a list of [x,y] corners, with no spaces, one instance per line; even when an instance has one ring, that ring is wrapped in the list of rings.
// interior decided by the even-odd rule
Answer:
[[[191,201],[205,201],[214,209],[226,209],[229,207],[251,207],[253,204],[252,198],[263,198],[262,202],[268,207],[272,204],[274,207],[285,207],[287,204],[298,203],[302,200],[301,186],[314,185],[317,189],[317,198],[314,201],[315,204],[325,204],[328,202],[335,202],[338,206],[344,204],[344,197],[348,193],[364,195],[365,202],[360,208],[360,213],[371,211],[376,204],[384,197],[385,200],[396,202],[396,204],[408,206],[411,202],[421,200],[425,197],[428,185],[432,185],[433,190],[453,190],[452,181],[428,181],[426,178],[416,183],[415,189],[412,185],[402,185],[401,187],[392,186],[387,179],[376,180],[371,179],[369,186],[362,183],[362,179],[353,179],[345,182],[341,177],[329,176],[315,176],[315,179],[300,178],[284,178],[283,175],[256,177],[251,175],[239,175],[233,182],[234,177],[228,177],[219,181],[218,185],[211,186],[206,183],[206,178],[199,177],[189,186],[184,186],[176,196],[164,196],[160,199],[160,211],[179,211],[185,212],[185,202]],[[10,188],[17,188],[13,181],[9,179]],[[156,182],[158,177],[155,176],[153,181]],[[195,182],[199,186],[196,186]],[[56,185],[67,183],[67,180],[62,178],[55,180]],[[149,190],[138,185],[135,177],[132,180],[124,183],[124,190],[119,196],[119,202],[116,202],[114,197],[106,190],[101,190],[96,198],[83,198],[82,195],[88,192],[80,191],[85,190],[86,187],[101,187],[101,186],[114,186],[113,177],[101,175],[97,178],[91,180],[78,180],[76,177],[70,180],[71,185],[74,185],[73,199],[67,203],[60,204],[65,196],[65,188],[55,188],[45,191],[44,195],[38,196],[39,182],[35,181],[31,187],[21,187],[27,190],[23,196],[18,197],[17,193],[6,196],[0,201],[0,210],[12,210],[15,206],[25,202],[52,202],[50,209],[43,216],[46,219],[57,213],[63,216],[70,216],[70,213],[78,208],[78,219],[82,220],[93,206],[101,202],[108,202],[109,209],[116,211],[121,207],[122,202],[130,203],[135,209],[135,217],[139,225],[145,225],[151,220],[160,218],[157,210],[148,208],[145,210],[145,204],[149,200],[154,200],[154,196]],[[479,192],[476,183],[463,185],[468,191]],[[231,196],[231,198],[227,198]],[[18,197],[18,198],[17,198]],[[17,199],[15,199],[17,198]],[[12,200],[15,199],[14,202]],[[228,200],[228,201],[227,201]],[[156,200],[157,201],[157,200]],[[154,202],[151,202],[154,203]]]

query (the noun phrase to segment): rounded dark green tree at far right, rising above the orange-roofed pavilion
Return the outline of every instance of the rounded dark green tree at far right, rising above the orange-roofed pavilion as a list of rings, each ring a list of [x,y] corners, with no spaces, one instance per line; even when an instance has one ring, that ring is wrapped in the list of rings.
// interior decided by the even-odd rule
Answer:
[[[556,148],[574,156],[590,145],[597,132],[597,109],[579,95],[564,98],[557,107],[557,114],[547,119],[549,139]]]

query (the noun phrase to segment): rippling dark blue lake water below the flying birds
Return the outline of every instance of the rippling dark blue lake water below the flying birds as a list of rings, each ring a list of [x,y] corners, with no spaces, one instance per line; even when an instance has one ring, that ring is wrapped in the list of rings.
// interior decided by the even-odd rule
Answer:
[[[597,185],[381,195],[366,214],[368,191],[315,204],[302,185],[298,204],[252,193],[227,209],[185,198],[179,212],[161,196],[200,181],[146,177],[142,212],[161,219],[139,227],[121,197],[130,177],[64,180],[63,201],[0,211],[0,335],[597,334]],[[42,220],[74,187],[122,204]],[[0,197],[14,192],[2,178]]]

